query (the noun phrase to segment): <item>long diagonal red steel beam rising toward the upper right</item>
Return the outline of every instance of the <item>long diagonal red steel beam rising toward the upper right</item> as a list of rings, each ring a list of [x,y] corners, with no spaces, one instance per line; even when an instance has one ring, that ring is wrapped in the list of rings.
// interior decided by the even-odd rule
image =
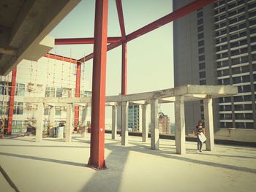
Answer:
[[[205,7],[206,5],[211,4],[214,1],[217,1],[217,0],[196,0],[196,1],[193,1],[192,3],[187,4],[186,6],[181,7],[180,9],[177,9],[174,12],[171,12],[170,14],[165,15],[165,17],[159,18],[158,20],[156,20],[152,23],[149,23],[147,26],[139,28],[137,31],[134,31],[131,34],[127,35],[126,42],[129,42],[132,39],[135,39],[137,37],[140,37],[143,34],[146,34],[150,31],[153,31],[156,28],[164,26],[165,24],[170,23],[173,20],[177,20],[178,18],[182,18],[185,15],[188,15],[190,12],[194,12],[197,9]],[[119,45],[122,45],[122,42],[111,43],[110,45],[108,45],[108,50],[112,50],[113,48],[116,48]],[[89,61],[91,58],[94,58],[93,53],[91,53],[89,55],[86,55],[83,58],[80,58],[78,61],[86,62],[86,61]]]

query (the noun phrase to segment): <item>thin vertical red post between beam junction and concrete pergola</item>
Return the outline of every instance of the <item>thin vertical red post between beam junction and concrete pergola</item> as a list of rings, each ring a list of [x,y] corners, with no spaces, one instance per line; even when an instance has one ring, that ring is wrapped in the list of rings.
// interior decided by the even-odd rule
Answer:
[[[127,94],[127,43],[122,45],[121,56],[121,94]]]

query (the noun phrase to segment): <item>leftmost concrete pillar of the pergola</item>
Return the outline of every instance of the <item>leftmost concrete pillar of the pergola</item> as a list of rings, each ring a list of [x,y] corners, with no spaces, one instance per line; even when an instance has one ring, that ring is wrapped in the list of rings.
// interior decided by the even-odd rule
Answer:
[[[37,106],[36,142],[42,141],[42,120],[44,118],[45,107],[43,103]]]

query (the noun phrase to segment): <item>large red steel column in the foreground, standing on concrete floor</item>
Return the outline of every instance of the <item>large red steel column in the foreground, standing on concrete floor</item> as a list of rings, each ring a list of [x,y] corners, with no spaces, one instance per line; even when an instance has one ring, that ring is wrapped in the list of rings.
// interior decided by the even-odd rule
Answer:
[[[89,166],[105,168],[105,82],[108,32],[108,0],[96,0],[94,63],[91,96],[91,154]]]

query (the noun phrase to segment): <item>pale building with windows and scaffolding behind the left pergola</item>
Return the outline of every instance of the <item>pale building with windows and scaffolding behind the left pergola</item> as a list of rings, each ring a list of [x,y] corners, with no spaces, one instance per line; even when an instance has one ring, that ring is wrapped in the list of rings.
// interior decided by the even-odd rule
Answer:
[[[75,97],[76,64],[42,57],[39,61],[23,60],[17,66],[15,99],[12,117],[12,134],[24,131],[27,120],[37,118],[37,105],[26,104],[24,97]],[[91,96],[90,85],[81,69],[80,96]],[[12,72],[0,79],[0,116],[8,119]],[[80,115],[82,116],[82,107]],[[55,120],[66,118],[65,107],[56,107]],[[44,127],[48,125],[50,106],[45,105]],[[89,112],[90,113],[90,112]],[[90,115],[90,114],[88,114]],[[23,130],[22,130],[23,129]]]

